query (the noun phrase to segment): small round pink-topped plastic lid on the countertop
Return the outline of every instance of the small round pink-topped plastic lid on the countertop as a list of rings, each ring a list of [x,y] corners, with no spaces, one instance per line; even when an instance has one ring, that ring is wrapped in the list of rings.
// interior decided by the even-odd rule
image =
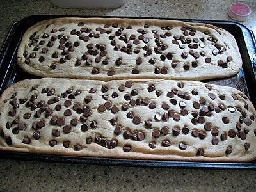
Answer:
[[[244,3],[233,3],[230,5],[228,15],[234,20],[244,21],[250,17],[251,8]]]

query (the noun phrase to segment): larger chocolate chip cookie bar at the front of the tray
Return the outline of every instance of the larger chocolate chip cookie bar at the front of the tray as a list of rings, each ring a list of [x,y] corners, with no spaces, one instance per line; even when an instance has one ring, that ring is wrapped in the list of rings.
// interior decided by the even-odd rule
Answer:
[[[68,156],[256,159],[255,109],[196,81],[33,79],[0,99],[0,150]]]

